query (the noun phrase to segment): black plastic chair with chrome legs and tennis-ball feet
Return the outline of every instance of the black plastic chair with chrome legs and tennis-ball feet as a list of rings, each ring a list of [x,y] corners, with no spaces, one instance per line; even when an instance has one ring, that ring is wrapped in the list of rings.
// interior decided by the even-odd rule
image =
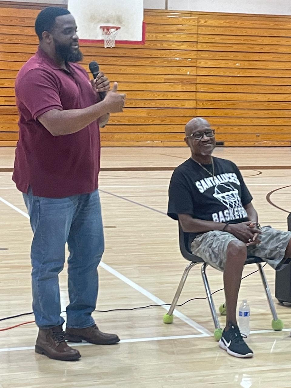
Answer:
[[[211,295],[208,279],[207,279],[207,276],[206,276],[206,267],[207,267],[208,263],[205,263],[200,257],[193,255],[189,251],[189,249],[187,248],[188,247],[188,241],[187,240],[188,240],[187,239],[187,234],[185,234],[183,232],[182,227],[180,226],[180,223],[179,223],[180,251],[181,251],[183,257],[185,259],[189,260],[190,263],[187,265],[187,267],[184,270],[184,273],[183,273],[182,278],[180,280],[180,283],[178,285],[177,291],[176,291],[175,296],[173,298],[173,301],[171,303],[171,307],[170,307],[169,311],[167,312],[167,314],[164,315],[163,321],[164,321],[164,323],[172,323],[173,322],[173,311],[175,310],[175,307],[176,307],[176,305],[178,303],[178,299],[179,299],[180,294],[182,292],[182,289],[184,287],[184,284],[185,284],[185,281],[187,279],[187,276],[188,276],[190,270],[194,267],[194,265],[201,263],[202,264],[202,266],[201,266],[202,280],[203,280],[203,284],[204,284],[204,287],[205,287],[206,296],[207,296],[207,299],[208,299],[208,303],[209,303],[209,306],[210,306],[210,311],[211,311],[212,319],[213,319],[214,326],[215,326],[214,338],[215,338],[216,341],[219,341],[221,336],[222,336],[222,328],[220,327],[220,323],[219,323],[219,320],[218,320],[218,317],[217,317],[217,312],[215,310],[215,305],[213,303],[213,298],[212,298],[212,295]],[[270,310],[271,310],[271,313],[272,313],[272,316],[273,316],[272,329],[274,329],[276,331],[280,331],[280,330],[283,329],[283,322],[282,322],[281,319],[278,319],[277,312],[276,312],[275,305],[274,305],[274,301],[272,299],[270,288],[268,286],[268,282],[267,282],[267,279],[266,279],[266,276],[265,276],[265,272],[264,272],[264,270],[262,268],[262,265],[261,265],[262,262],[263,262],[263,260],[261,258],[259,258],[259,257],[248,256],[245,264],[257,264],[258,265],[258,270],[259,270],[261,278],[262,278],[263,286],[265,288],[265,292],[266,292],[266,295],[267,295],[268,303],[269,303]],[[219,310],[220,310],[220,314],[221,315],[225,315],[226,308],[225,308],[224,304],[220,306]]]

